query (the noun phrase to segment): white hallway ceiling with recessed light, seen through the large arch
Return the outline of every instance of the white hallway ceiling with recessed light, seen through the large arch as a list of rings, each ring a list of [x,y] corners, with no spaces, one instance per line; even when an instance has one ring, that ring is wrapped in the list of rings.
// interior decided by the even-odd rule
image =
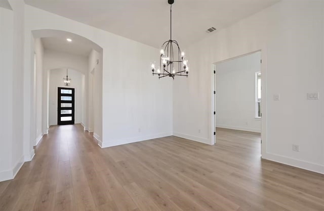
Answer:
[[[72,38],[68,42],[66,38]],[[75,37],[43,37],[41,38],[44,49],[65,52],[74,55],[88,56],[93,49],[93,44],[90,41],[79,40]]]

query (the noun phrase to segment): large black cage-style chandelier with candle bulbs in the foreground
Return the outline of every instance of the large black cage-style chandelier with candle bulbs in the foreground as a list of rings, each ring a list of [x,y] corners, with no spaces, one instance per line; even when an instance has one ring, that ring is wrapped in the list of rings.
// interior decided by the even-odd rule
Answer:
[[[155,72],[155,63],[151,65],[152,74],[161,77],[187,76],[189,73],[188,60],[184,52],[180,51],[178,42],[172,40],[172,4],[174,0],[168,0],[170,4],[170,39],[165,41],[160,50],[159,66]]]

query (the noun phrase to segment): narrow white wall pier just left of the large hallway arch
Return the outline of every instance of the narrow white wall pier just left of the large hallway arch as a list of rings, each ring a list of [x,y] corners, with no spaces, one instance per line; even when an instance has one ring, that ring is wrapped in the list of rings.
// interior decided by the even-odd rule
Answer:
[[[24,2],[22,0],[9,1],[13,9],[13,69],[12,69],[12,169],[15,174],[24,161],[28,161],[33,156],[33,143],[30,142],[30,130],[24,127],[31,124],[30,107],[25,107],[22,103],[32,94],[32,78],[24,75]],[[31,39],[27,41],[31,42]],[[30,43],[31,44],[31,43]],[[32,65],[29,66],[32,68]],[[24,86],[29,89],[24,89]]]

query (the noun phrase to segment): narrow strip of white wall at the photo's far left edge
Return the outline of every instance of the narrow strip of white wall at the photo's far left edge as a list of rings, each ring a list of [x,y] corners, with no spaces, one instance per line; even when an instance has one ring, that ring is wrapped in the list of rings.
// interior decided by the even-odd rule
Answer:
[[[12,173],[13,11],[0,8],[0,181]]]

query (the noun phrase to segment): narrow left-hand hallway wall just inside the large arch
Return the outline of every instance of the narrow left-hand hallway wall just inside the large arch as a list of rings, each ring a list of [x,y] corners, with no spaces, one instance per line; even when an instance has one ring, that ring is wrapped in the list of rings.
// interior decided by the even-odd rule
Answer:
[[[43,136],[43,58],[44,47],[41,39],[36,38],[34,40],[35,56],[36,56],[36,74],[34,75],[34,92],[35,92],[35,129],[34,129],[34,145],[41,140]]]

